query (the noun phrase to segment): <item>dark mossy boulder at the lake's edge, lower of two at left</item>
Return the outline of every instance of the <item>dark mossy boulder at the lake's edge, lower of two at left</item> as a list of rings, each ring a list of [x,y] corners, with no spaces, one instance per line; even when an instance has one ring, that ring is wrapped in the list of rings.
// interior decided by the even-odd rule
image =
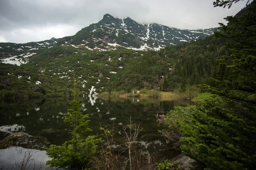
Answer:
[[[4,144],[6,141],[9,142],[8,145]],[[44,150],[44,148],[49,147],[50,143],[43,136],[32,136],[28,133],[17,132],[7,136],[0,144],[6,145],[7,147],[19,146],[29,149]]]

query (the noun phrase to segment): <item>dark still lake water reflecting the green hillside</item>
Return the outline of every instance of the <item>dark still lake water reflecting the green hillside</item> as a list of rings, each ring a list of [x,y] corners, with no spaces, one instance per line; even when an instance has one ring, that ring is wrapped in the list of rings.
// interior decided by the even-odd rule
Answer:
[[[151,158],[172,158],[179,154],[171,150],[165,140],[159,136],[156,114],[166,114],[174,106],[186,106],[190,103],[169,98],[94,98],[84,97],[82,112],[89,114],[89,127],[92,131],[88,135],[102,134],[99,127],[112,128],[114,124],[115,145],[124,142],[122,127],[132,123],[143,128],[138,136],[138,143]],[[70,125],[63,122],[64,115],[70,106],[67,99],[28,100],[25,102],[0,103],[0,140],[12,132],[26,132],[29,135],[40,135],[48,139],[51,144],[61,145],[70,139]],[[45,131],[50,129],[51,133]],[[5,151],[6,152],[6,151]],[[1,153],[0,153],[1,154]],[[5,156],[0,155],[0,164]],[[154,158],[157,159],[157,158]]]

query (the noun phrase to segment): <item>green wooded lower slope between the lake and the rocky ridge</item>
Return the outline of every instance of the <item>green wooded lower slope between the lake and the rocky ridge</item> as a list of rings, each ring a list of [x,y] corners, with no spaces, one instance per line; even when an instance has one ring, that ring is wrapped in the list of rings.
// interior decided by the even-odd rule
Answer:
[[[173,91],[184,83],[210,83],[215,59],[227,53],[212,36],[160,51],[89,51],[61,45],[42,49],[27,64],[0,63],[1,98],[68,95],[72,79],[84,94],[142,88]],[[186,82],[185,82],[186,81]]]

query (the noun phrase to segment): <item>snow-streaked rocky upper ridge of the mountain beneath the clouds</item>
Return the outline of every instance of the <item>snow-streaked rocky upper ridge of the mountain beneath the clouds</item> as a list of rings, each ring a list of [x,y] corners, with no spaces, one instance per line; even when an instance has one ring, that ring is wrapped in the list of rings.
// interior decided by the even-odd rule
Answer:
[[[137,23],[129,17],[119,19],[105,14],[98,23],[82,28],[73,36],[58,39],[52,37],[50,40],[24,44],[0,43],[0,58],[6,58],[11,55],[10,53],[17,51],[35,51],[41,48],[51,48],[54,45],[71,45],[74,48],[87,48],[96,51],[120,48],[159,50],[169,45],[207,37],[215,29],[186,30],[157,23],[146,25]]]

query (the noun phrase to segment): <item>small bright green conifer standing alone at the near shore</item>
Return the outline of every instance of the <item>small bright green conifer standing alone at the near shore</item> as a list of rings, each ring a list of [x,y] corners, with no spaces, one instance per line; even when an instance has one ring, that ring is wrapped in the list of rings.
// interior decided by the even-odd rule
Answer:
[[[90,169],[96,165],[96,150],[98,146],[96,143],[101,139],[96,139],[96,136],[83,137],[84,133],[90,128],[88,123],[88,115],[83,115],[81,111],[81,101],[77,99],[79,95],[76,84],[74,83],[74,90],[72,96],[74,99],[69,101],[71,108],[65,116],[64,122],[69,122],[72,130],[72,139],[65,142],[61,146],[54,144],[50,145],[47,155],[52,160],[47,161],[51,167],[61,167],[68,170]]]

